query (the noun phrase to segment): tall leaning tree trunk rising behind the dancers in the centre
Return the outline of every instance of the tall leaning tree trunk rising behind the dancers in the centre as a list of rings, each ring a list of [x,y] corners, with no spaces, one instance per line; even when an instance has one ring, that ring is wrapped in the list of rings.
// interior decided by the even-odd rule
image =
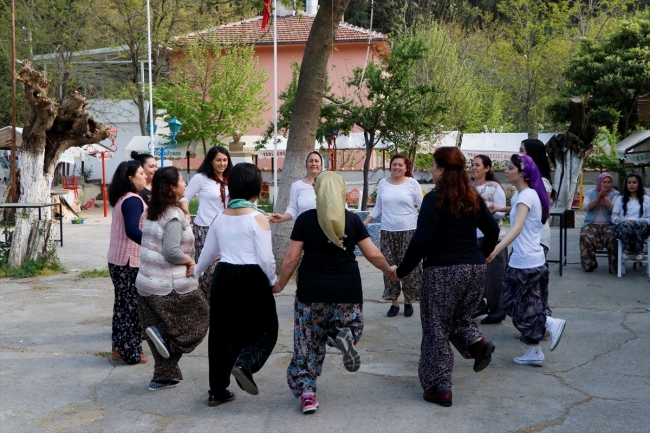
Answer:
[[[279,185],[275,185],[278,188],[275,212],[284,212],[287,208],[291,184],[304,176],[305,157],[314,149],[321,100],[327,81],[327,60],[332,48],[332,35],[338,31],[349,2],[350,0],[322,0],[309,32],[300,66],[296,103],[289,125],[282,180]],[[292,222],[272,226],[273,254],[278,271],[289,246],[292,228]]]

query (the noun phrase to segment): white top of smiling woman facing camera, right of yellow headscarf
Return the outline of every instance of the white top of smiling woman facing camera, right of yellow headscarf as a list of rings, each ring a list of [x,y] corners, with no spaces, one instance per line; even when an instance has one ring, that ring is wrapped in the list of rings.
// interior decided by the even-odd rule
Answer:
[[[399,185],[382,179],[377,185],[377,203],[369,216],[377,218],[381,214],[382,230],[415,230],[418,222],[415,207],[422,206],[422,198],[422,187],[412,177]]]

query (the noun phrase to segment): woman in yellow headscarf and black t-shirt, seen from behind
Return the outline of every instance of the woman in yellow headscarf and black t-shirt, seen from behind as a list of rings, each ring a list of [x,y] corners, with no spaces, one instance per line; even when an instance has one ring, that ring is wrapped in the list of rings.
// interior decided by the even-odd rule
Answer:
[[[316,379],[323,369],[328,340],[343,352],[346,370],[357,371],[361,365],[354,345],[363,332],[363,293],[354,246],[358,245],[384,275],[392,273],[361,220],[345,210],[343,178],[334,172],[322,173],[315,191],[316,209],[296,220],[280,279],[273,288],[275,293],[281,292],[300,262],[294,303],[294,350],[287,382],[293,395],[301,397],[303,413],[318,407]]]

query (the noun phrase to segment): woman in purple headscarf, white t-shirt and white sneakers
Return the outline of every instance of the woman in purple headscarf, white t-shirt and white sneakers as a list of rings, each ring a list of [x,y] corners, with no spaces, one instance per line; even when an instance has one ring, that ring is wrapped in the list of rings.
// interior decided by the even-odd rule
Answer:
[[[547,316],[544,311],[548,267],[540,239],[542,226],[550,213],[549,201],[539,169],[527,155],[512,155],[506,180],[513,183],[519,193],[510,211],[512,228],[487,262],[492,262],[512,244],[512,255],[503,276],[501,308],[512,317],[512,324],[521,333],[519,340],[529,346],[526,354],[514,361],[521,365],[543,365],[544,354],[539,342],[546,329],[551,334],[549,350],[553,350],[566,323]]]

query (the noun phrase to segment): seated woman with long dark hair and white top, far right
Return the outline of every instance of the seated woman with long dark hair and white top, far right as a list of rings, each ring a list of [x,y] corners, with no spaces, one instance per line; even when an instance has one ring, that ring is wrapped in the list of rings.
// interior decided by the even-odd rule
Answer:
[[[625,178],[623,195],[614,203],[612,223],[616,224],[614,235],[623,243],[623,260],[630,256],[643,260],[643,245],[650,236],[650,197],[645,195],[638,174]]]

